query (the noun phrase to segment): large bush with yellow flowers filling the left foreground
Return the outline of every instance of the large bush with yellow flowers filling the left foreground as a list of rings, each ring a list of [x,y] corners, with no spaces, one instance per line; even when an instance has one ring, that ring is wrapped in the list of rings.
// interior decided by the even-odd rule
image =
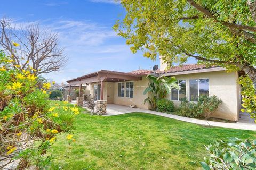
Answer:
[[[11,62],[12,58],[0,51],[0,169],[15,159],[19,159],[18,169],[31,165],[52,168],[53,158],[46,154],[47,149],[59,133],[67,133],[67,140],[75,141],[71,133],[79,109],[58,104],[51,107],[45,92],[51,84],[39,89],[30,67],[21,71]],[[60,109],[65,114],[58,112]]]

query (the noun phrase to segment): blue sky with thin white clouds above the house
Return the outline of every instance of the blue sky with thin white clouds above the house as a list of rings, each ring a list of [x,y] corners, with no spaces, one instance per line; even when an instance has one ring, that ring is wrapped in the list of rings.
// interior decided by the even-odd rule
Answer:
[[[116,36],[112,27],[125,11],[113,0],[10,0],[1,6],[1,17],[39,22],[59,33],[69,61],[61,71],[44,75],[58,83],[98,70],[128,72],[159,65],[158,59],[145,58],[142,52],[132,54],[125,39]]]

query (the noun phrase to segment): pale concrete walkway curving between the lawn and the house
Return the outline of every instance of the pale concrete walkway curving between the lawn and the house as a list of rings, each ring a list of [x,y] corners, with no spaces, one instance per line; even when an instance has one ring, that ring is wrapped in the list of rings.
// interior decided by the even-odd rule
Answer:
[[[87,109],[86,107],[83,107],[83,108]],[[182,117],[182,116],[150,111],[150,110],[140,109],[140,108],[130,108],[129,106],[108,104],[107,113],[104,116],[114,116],[114,115],[120,115],[120,114],[131,113],[131,112],[149,113],[149,114],[154,114],[158,116],[173,118],[175,120],[180,120],[184,122],[195,123],[203,126],[209,126],[210,124],[210,126],[213,126],[213,127],[256,131],[256,124],[254,124],[252,120],[248,120],[248,118],[245,118],[246,117],[245,115],[243,116],[243,120],[239,120],[236,123],[224,123],[224,122],[205,121],[205,120],[199,120],[196,118]]]

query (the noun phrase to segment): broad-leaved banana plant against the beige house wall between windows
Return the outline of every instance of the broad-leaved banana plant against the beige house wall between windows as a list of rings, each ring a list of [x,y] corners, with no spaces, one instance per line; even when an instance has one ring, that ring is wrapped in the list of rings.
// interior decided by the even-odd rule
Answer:
[[[153,109],[156,108],[156,101],[166,98],[166,95],[171,93],[172,88],[180,90],[175,77],[148,75],[147,78],[149,79],[149,83],[143,94],[146,95],[149,93],[150,95],[144,100],[144,104],[148,102]]]

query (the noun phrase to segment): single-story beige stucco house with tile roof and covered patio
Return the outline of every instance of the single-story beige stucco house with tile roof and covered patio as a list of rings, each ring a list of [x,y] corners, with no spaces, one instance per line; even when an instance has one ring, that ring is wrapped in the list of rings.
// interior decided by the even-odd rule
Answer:
[[[152,70],[135,70],[131,72],[118,72],[100,70],[81,77],[68,80],[70,86],[86,84],[86,90],[95,100],[107,100],[107,104],[136,105],[138,108],[150,109],[144,99],[148,94],[143,91],[148,87],[149,74],[166,75],[177,78],[181,89],[173,89],[167,96],[175,106],[179,106],[183,98],[188,101],[197,101],[201,94],[217,96],[222,100],[218,110],[212,115],[237,121],[241,108],[240,86],[237,83],[239,72],[226,72],[218,66],[206,67],[205,65],[186,64],[174,66],[166,70],[166,64],[160,63],[156,72]]]

